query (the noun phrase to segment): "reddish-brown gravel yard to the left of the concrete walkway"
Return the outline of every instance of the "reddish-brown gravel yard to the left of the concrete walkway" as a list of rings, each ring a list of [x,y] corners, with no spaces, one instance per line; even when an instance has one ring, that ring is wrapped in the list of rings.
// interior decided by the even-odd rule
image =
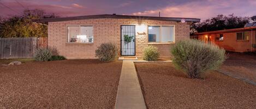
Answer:
[[[114,108],[122,61],[0,65],[0,108]]]

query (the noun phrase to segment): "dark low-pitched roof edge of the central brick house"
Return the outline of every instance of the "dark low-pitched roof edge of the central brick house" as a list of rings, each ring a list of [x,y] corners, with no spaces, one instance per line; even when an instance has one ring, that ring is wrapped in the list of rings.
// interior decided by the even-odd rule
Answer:
[[[74,21],[88,20],[96,18],[121,18],[121,19],[136,19],[136,20],[157,20],[157,21],[180,21],[184,19],[186,22],[200,22],[199,18],[181,18],[181,17],[153,17],[153,16],[129,16],[129,15],[89,15],[75,17],[58,17],[58,18],[42,18],[33,20],[33,22],[59,22],[59,21]]]

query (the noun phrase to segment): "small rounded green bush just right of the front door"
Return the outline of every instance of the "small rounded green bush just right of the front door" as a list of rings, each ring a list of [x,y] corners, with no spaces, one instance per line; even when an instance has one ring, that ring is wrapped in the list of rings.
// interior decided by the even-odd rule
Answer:
[[[143,50],[143,59],[146,61],[156,61],[159,57],[159,52],[157,47],[152,45],[147,46]]]

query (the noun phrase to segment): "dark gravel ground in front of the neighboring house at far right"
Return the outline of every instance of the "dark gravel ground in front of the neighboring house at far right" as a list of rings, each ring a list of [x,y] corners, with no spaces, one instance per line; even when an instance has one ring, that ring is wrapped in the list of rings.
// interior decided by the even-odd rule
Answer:
[[[256,82],[256,55],[231,52],[221,69]]]

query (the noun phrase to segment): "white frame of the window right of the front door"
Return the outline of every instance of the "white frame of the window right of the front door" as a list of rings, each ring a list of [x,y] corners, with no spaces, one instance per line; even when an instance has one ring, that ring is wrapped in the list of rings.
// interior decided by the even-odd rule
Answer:
[[[160,41],[162,41],[162,26],[169,26],[169,27],[174,27],[174,41],[169,41],[169,42],[150,42],[150,41],[148,41],[148,27],[154,27],[154,26],[158,26],[158,27],[160,27],[160,31],[159,31],[159,33],[160,33]],[[148,43],[175,43],[175,25],[148,25],[147,26],[147,42]]]

